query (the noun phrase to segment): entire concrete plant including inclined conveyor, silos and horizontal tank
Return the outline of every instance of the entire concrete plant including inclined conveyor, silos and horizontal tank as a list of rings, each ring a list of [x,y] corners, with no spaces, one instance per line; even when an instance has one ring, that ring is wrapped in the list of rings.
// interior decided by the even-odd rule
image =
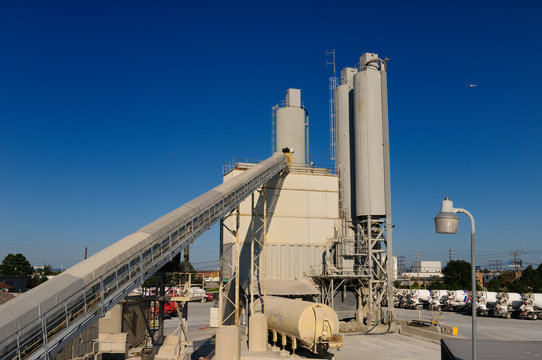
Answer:
[[[387,59],[365,53],[331,79],[331,169],[309,163],[308,111],[301,90],[288,89],[273,107],[268,159],[233,162],[222,184],[0,308],[0,357],[55,356],[156,273],[163,298],[164,269],[217,222],[217,358],[238,357],[242,319],[256,351],[268,331],[274,343],[322,352],[342,346],[339,317],[391,324],[393,307],[382,311],[397,268],[386,74]],[[183,317],[187,300],[176,299]],[[184,317],[173,341],[185,355],[186,327]]]

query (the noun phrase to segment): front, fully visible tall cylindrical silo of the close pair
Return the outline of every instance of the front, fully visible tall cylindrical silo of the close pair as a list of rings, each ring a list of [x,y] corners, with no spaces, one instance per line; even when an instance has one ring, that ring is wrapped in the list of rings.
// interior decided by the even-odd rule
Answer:
[[[386,196],[382,132],[381,78],[376,54],[364,54],[354,76],[356,215],[384,217]],[[365,63],[363,62],[365,61]]]

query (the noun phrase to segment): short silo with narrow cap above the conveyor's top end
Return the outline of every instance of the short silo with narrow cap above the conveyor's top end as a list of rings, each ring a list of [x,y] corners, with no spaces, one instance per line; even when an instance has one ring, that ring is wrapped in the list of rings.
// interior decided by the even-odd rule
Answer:
[[[293,163],[306,164],[306,111],[301,105],[301,90],[286,91],[285,106],[276,110],[276,151],[293,150]]]

